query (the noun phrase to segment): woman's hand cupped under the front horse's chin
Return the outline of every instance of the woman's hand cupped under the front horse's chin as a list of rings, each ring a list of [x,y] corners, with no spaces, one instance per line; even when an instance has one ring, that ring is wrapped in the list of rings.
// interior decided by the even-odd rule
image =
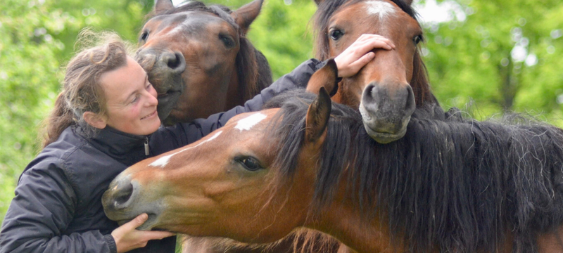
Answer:
[[[118,247],[118,253],[145,247],[148,240],[160,240],[175,235],[165,231],[138,231],[135,229],[145,223],[146,219],[148,219],[147,214],[139,214],[132,221],[123,224],[119,228],[115,228],[111,232],[115,245]]]

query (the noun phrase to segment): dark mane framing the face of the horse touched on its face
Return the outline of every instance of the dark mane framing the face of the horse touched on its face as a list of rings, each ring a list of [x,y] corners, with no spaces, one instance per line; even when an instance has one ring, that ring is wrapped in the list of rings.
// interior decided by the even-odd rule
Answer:
[[[317,8],[313,16],[313,25],[315,34],[317,36],[315,42],[315,56],[319,60],[327,60],[330,57],[329,53],[329,37],[327,36],[328,25],[331,16],[339,10],[342,6],[356,4],[363,0],[331,0],[323,1]],[[404,0],[390,0],[393,1],[401,10],[410,15],[418,22],[418,14],[414,8],[405,3]],[[436,104],[438,99],[431,93],[430,84],[428,81],[428,71],[426,65],[420,57],[420,48],[415,52],[415,57],[412,64],[412,80],[410,82],[412,91],[415,93],[415,102],[417,108],[422,105]]]

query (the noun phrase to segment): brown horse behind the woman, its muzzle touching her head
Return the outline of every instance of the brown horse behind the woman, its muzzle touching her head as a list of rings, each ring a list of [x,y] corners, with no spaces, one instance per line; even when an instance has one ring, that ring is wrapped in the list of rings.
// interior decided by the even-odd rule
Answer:
[[[137,61],[158,91],[165,124],[242,105],[272,83],[266,58],[245,35],[263,0],[236,11],[158,0],[139,37]]]

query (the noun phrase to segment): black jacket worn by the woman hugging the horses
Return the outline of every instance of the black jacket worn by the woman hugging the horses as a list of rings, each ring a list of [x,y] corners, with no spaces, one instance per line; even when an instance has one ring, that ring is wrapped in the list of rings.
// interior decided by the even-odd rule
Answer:
[[[0,231],[0,252],[116,252],[118,227],[103,213],[101,196],[121,171],[147,157],[187,145],[241,112],[260,110],[287,89],[304,87],[320,67],[308,60],[260,95],[227,112],[135,136],[106,127],[92,138],[70,126],[20,176]],[[144,145],[148,141],[149,155]],[[151,240],[134,252],[174,252],[175,237]]]

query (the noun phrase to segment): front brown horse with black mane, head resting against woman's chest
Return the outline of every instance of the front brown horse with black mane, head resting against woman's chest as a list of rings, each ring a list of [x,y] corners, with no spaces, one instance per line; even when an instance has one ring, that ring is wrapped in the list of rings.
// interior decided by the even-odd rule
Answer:
[[[563,251],[561,129],[433,106],[381,145],[324,88],[298,94],[129,167],[103,195],[106,214],[253,243],[313,228],[357,252]]]

